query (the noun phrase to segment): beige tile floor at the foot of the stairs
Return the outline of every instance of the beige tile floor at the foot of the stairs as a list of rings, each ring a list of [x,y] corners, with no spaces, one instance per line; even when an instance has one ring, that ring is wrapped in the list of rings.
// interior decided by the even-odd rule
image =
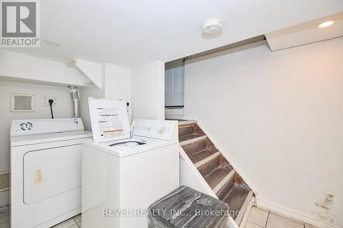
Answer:
[[[252,207],[245,228],[313,228],[305,223],[283,218],[271,212]]]

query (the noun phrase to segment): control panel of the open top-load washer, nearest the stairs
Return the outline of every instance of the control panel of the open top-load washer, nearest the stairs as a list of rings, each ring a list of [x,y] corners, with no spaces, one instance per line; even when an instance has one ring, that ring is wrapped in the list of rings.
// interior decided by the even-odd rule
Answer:
[[[134,120],[131,134],[161,140],[176,140],[178,139],[178,121]]]

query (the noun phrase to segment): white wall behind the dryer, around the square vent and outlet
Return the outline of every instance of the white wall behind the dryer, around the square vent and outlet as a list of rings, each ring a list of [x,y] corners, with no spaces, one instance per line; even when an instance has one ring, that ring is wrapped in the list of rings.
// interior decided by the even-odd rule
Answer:
[[[10,94],[24,93],[35,95],[34,112],[10,112]],[[44,106],[44,96],[54,96],[55,118],[71,118],[72,104],[69,90],[66,87],[43,86],[0,81],[0,171],[10,169],[10,125],[12,120],[51,118],[50,107]],[[6,194],[3,196],[3,194]],[[1,192],[0,205],[8,203],[7,192]]]

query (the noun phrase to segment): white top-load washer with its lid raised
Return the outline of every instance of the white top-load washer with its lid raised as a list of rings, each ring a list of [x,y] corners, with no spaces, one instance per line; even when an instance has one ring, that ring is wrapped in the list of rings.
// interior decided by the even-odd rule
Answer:
[[[91,99],[95,142],[82,147],[82,227],[147,227],[147,208],[179,186],[178,122],[134,120]]]

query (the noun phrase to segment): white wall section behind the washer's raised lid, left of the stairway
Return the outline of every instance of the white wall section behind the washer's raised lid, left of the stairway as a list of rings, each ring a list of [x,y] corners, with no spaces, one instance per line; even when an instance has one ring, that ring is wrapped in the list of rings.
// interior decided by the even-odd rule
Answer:
[[[132,104],[133,118],[165,118],[164,63],[151,62],[137,68],[124,68],[103,64],[102,89],[91,86],[80,90],[81,116],[87,130],[91,131],[88,97],[124,99]]]

